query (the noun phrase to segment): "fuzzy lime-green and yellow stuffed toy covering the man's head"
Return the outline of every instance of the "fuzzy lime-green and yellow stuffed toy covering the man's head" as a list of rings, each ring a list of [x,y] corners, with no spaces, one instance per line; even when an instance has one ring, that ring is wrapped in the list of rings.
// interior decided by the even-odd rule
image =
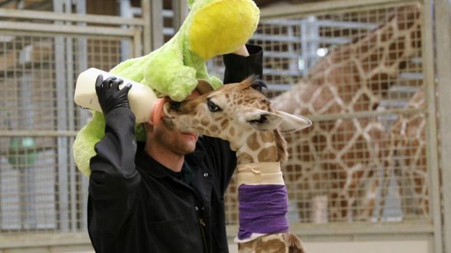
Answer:
[[[189,15],[174,37],[147,56],[125,60],[111,74],[148,85],[159,97],[182,101],[196,88],[199,79],[213,88],[222,83],[209,76],[205,61],[230,54],[245,44],[257,28],[260,10],[253,0],[188,0]],[[89,177],[94,145],[104,136],[104,115],[93,112],[93,119],[77,134],[74,160]],[[136,140],[145,141],[141,124]]]

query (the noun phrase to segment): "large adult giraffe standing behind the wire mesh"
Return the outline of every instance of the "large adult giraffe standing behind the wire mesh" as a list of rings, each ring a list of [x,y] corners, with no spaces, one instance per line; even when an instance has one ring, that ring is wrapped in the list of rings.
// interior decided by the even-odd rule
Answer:
[[[292,90],[272,99],[274,108],[301,115],[377,110],[409,60],[420,56],[421,22],[419,6],[394,8],[377,29],[336,47]],[[388,165],[388,137],[376,117],[323,120],[287,136],[295,155],[285,175],[290,199],[300,199],[301,221],[370,220],[379,171]]]

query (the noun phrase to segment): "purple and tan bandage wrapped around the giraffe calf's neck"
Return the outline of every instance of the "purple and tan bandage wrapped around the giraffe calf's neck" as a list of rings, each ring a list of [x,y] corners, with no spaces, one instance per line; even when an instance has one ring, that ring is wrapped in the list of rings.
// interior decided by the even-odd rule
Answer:
[[[287,188],[280,163],[238,165],[239,232],[236,243],[288,231]]]

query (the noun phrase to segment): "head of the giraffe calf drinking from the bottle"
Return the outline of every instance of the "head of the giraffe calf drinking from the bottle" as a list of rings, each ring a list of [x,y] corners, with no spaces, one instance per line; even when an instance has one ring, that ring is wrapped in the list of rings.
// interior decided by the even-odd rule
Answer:
[[[260,92],[261,84],[249,78],[223,85],[205,95],[164,106],[163,122],[169,129],[196,132],[239,142],[255,131],[296,131],[310,126],[310,120],[271,108]]]

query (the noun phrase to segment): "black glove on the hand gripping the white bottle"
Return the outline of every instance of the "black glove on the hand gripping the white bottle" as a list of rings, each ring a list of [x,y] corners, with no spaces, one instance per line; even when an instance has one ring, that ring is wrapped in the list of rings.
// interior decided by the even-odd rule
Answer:
[[[104,115],[116,108],[130,108],[127,95],[132,88],[132,83],[128,83],[122,90],[119,90],[119,85],[123,82],[122,79],[117,79],[115,76],[110,76],[105,80],[101,74],[97,76],[95,92]]]

